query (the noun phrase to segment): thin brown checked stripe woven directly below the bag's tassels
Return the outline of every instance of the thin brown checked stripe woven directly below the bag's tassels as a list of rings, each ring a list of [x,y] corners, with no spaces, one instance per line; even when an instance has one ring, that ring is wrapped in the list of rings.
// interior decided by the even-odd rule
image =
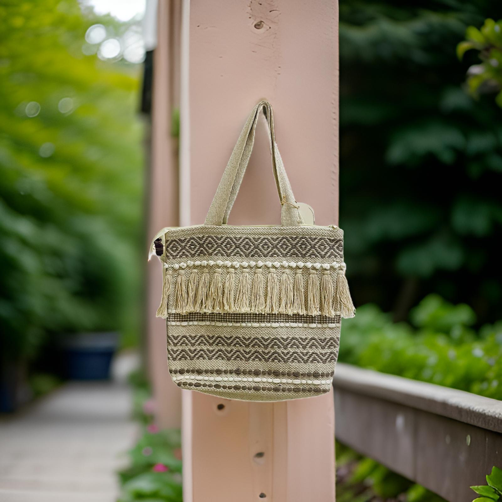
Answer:
[[[296,322],[304,324],[339,324],[340,314],[334,317],[324,315],[299,315],[299,314],[236,314],[236,313],[209,313],[190,312],[189,314],[169,313],[167,320],[170,322],[246,322],[246,323],[273,323],[273,322]]]

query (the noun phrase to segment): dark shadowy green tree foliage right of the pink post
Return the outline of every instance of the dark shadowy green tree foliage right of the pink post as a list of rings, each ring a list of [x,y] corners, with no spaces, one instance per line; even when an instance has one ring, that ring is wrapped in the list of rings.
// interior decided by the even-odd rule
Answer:
[[[356,305],[402,320],[435,292],[479,322],[500,315],[502,110],[464,89],[476,54],[459,63],[455,48],[501,10],[340,0],[340,226]]]

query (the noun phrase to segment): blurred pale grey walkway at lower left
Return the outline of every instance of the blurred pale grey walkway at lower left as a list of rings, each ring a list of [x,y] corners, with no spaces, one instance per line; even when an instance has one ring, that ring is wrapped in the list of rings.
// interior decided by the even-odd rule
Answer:
[[[127,386],[72,382],[0,421],[0,500],[114,502],[130,417]]]

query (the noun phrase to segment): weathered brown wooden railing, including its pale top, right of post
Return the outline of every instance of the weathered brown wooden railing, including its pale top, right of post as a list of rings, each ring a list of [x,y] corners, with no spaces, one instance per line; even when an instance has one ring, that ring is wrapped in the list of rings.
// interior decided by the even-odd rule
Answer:
[[[502,466],[502,402],[338,363],[336,438],[452,502]]]

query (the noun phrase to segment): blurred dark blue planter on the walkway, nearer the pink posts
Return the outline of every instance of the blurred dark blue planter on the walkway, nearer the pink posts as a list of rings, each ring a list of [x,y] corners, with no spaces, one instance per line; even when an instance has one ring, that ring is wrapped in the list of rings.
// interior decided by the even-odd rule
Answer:
[[[66,376],[70,380],[107,380],[118,345],[117,333],[82,333],[63,345]]]

